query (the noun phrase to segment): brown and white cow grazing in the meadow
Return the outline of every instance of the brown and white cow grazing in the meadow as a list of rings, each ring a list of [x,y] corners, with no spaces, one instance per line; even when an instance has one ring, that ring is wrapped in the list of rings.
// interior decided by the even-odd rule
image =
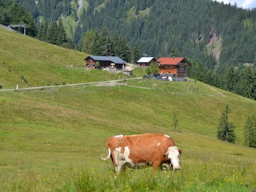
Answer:
[[[106,142],[108,155],[100,158],[106,161],[111,157],[114,172],[119,173],[125,164],[130,167],[137,167],[143,164],[153,166],[157,170],[160,166],[173,166],[179,170],[180,154],[175,142],[166,134],[135,134],[115,135]]]

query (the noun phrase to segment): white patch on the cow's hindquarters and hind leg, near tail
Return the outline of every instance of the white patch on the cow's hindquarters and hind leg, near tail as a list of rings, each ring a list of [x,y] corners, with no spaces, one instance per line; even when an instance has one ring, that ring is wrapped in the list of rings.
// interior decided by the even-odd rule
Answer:
[[[129,146],[125,147],[125,151],[123,154],[121,153],[121,147],[115,148],[114,150],[114,156],[115,156],[115,162],[117,163],[117,167],[115,167],[115,171],[117,173],[120,172],[122,169],[122,166],[126,164],[126,162],[130,163],[131,166],[134,166],[134,163],[132,160],[129,158],[130,156],[130,148]]]

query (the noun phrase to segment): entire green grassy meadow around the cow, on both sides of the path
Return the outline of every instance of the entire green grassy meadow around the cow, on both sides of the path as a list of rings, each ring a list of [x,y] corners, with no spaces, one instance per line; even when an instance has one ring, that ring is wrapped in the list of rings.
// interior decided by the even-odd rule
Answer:
[[[17,39],[16,44],[5,42],[8,37]],[[192,79],[130,80],[121,74],[86,71],[85,54],[1,28],[0,44],[2,89],[21,83],[21,75],[30,86],[124,79],[114,86],[0,91],[0,191],[256,190],[256,150],[244,146],[242,136],[246,118],[256,110],[254,100]],[[56,54],[39,54],[47,49]],[[77,68],[66,67],[70,63]],[[135,76],[142,73],[134,71]],[[237,126],[235,144],[216,137],[226,104],[230,122]],[[153,173],[150,167],[127,168],[115,178],[110,160],[98,158],[107,153],[106,140],[115,134],[144,133],[174,138],[182,148],[182,169]]]

